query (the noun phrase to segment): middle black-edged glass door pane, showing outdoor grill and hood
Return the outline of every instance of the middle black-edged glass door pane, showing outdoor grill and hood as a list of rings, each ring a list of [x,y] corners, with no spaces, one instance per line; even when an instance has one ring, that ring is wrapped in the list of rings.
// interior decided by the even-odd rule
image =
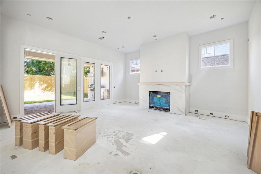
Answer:
[[[84,62],[83,102],[95,100],[95,64]]]

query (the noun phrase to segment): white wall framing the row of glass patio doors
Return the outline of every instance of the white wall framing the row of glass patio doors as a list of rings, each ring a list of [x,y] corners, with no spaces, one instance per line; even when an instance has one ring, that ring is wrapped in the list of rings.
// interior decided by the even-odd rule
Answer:
[[[32,24],[28,24],[27,34],[25,22],[3,15],[0,36],[0,83],[11,115],[20,112],[20,44],[113,62],[113,100],[125,98],[124,53]]]

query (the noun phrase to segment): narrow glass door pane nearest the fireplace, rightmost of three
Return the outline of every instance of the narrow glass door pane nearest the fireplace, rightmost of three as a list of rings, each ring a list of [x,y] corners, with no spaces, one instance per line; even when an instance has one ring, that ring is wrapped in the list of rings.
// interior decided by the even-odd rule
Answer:
[[[110,98],[110,66],[101,65],[101,100]]]

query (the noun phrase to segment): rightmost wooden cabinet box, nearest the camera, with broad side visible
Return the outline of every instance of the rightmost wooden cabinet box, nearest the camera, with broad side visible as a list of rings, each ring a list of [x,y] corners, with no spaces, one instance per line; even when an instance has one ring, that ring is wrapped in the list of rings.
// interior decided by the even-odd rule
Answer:
[[[96,142],[96,119],[97,117],[84,117],[62,127],[64,158],[77,160]]]

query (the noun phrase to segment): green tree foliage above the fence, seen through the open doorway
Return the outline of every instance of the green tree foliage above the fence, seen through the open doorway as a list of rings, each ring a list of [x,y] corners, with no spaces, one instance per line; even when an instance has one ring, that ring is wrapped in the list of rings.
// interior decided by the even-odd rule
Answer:
[[[30,75],[54,76],[54,62],[25,59],[24,73]]]

